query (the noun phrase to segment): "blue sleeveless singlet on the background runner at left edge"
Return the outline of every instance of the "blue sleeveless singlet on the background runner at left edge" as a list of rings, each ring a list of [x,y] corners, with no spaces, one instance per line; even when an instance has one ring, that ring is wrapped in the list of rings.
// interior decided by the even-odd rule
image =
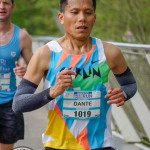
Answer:
[[[16,92],[16,76],[13,69],[20,56],[19,32],[20,28],[14,25],[10,41],[0,45],[0,104],[11,101]]]

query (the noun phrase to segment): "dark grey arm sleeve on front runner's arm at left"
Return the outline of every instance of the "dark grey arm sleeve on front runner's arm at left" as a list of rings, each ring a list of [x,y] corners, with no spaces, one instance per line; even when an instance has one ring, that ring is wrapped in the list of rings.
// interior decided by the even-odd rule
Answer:
[[[49,95],[49,88],[40,93],[34,94],[37,87],[36,84],[26,79],[22,79],[12,105],[14,112],[22,113],[33,111],[44,106],[53,99]]]

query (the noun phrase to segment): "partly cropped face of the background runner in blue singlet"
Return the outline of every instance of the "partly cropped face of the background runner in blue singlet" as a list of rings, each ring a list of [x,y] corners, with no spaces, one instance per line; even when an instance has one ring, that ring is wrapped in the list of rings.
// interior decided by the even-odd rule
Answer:
[[[0,22],[6,22],[11,17],[14,4],[11,0],[0,0]]]

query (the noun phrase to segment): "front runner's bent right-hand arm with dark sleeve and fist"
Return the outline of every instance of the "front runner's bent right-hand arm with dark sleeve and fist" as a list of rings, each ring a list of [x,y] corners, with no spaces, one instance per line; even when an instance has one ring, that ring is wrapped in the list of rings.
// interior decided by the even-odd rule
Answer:
[[[120,88],[111,88],[106,98],[108,98],[109,104],[115,103],[117,106],[121,106],[124,101],[135,95],[136,81],[121,50],[112,44],[104,43],[104,45],[107,63],[120,85]]]

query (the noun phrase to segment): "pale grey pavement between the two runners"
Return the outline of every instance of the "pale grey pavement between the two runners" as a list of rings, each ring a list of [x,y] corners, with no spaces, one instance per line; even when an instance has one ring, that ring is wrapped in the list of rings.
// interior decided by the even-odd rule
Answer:
[[[25,139],[18,141],[14,147],[29,147],[33,150],[42,150],[42,133],[47,122],[46,108],[24,113]]]

